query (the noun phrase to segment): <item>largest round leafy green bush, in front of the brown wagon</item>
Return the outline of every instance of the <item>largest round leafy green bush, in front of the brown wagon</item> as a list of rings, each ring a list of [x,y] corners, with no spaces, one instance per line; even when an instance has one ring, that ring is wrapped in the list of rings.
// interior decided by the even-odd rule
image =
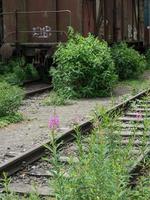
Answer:
[[[107,43],[91,34],[84,38],[71,31],[68,42],[58,46],[54,63],[54,89],[67,98],[109,95],[117,79]]]

